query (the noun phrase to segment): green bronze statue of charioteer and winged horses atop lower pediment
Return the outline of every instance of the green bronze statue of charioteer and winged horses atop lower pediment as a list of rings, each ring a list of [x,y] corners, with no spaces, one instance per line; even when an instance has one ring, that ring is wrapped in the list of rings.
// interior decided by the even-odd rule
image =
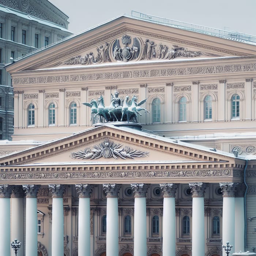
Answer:
[[[100,123],[115,121],[138,123],[137,115],[142,116],[142,114],[139,113],[141,110],[144,110],[145,113],[149,113],[147,109],[141,107],[147,99],[143,99],[137,103],[137,97],[134,95],[131,101],[129,101],[128,96],[122,101],[118,95],[118,91],[116,91],[114,95],[111,94],[111,103],[109,106],[105,106],[102,95],[99,97],[98,101],[92,100],[90,103],[83,102],[83,105],[91,108],[91,120],[99,116]]]

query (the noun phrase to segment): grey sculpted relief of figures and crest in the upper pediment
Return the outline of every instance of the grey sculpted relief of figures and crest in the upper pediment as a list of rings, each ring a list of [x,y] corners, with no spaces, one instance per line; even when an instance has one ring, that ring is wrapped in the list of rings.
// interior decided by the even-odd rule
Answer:
[[[132,43],[133,39],[133,43]],[[91,65],[107,62],[128,62],[139,60],[172,60],[178,57],[221,56],[220,54],[192,51],[178,45],[156,44],[150,39],[131,37],[126,34],[97,46],[84,56],[77,55],[64,61],[65,65]]]

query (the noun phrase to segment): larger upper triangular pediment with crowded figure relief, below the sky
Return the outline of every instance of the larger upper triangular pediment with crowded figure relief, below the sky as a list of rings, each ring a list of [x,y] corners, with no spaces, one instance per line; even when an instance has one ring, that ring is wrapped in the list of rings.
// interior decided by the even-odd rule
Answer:
[[[255,46],[121,16],[6,67],[7,71],[85,67],[256,54]]]

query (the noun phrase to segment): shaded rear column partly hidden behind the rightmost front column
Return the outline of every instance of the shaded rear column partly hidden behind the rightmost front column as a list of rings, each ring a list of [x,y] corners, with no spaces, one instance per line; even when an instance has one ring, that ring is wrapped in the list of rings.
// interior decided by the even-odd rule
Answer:
[[[236,185],[236,194],[235,194],[235,243],[234,251],[235,252],[245,252],[244,244],[244,232],[245,232],[245,223],[244,223],[244,193],[245,193],[245,184],[238,183]]]

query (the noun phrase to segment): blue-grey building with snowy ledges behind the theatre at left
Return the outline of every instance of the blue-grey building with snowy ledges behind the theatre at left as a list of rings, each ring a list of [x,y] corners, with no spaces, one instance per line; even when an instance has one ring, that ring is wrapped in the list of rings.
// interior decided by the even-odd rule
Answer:
[[[30,52],[71,35],[68,16],[49,1],[7,1],[0,3],[0,85],[12,86],[4,65]],[[3,87],[4,90],[4,87]],[[12,108],[12,105],[8,106]],[[14,113],[6,109],[8,118],[2,139],[11,140]],[[6,131],[6,133],[5,133]]]

